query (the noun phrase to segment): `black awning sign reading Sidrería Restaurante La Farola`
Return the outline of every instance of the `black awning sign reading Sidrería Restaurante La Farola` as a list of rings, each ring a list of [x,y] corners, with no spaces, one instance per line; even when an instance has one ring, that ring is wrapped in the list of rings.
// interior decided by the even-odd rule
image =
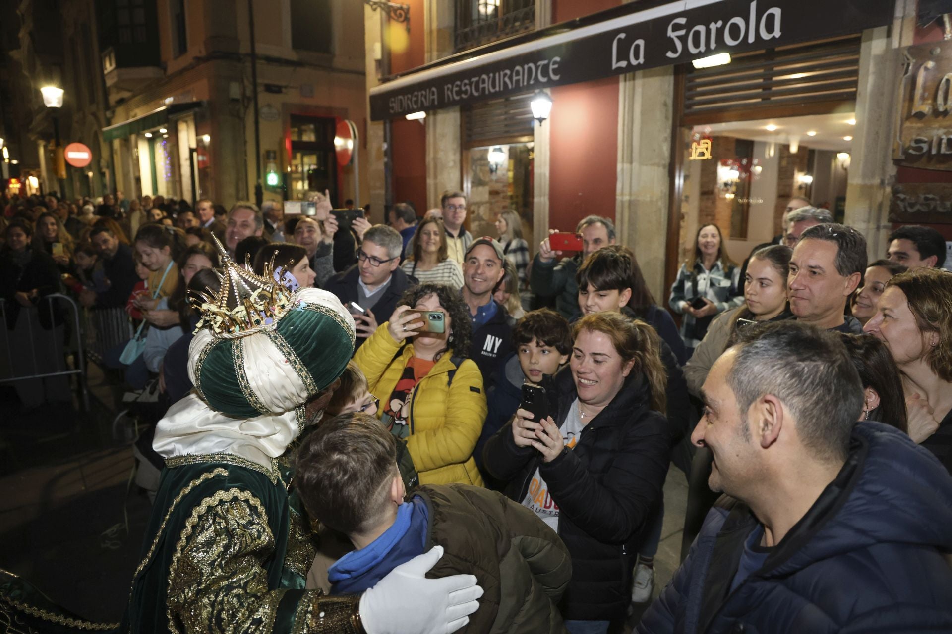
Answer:
[[[890,24],[894,0],[681,0],[397,78],[374,121]]]

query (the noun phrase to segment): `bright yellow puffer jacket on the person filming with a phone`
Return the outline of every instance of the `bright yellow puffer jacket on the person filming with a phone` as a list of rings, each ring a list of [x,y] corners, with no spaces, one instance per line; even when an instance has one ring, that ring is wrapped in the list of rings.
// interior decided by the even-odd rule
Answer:
[[[384,323],[354,355],[354,363],[367,376],[370,394],[385,403],[413,357],[413,344],[407,344],[403,352],[401,345]],[[482,487],[483,477],[472,452],[486,420],[483,375],[475,362],[466,359],[456,368],[453,384],[447,386],[448,373],[455,368],[450,357],[441,356],[410,395],[407,450],[420,474],[420,484]]]

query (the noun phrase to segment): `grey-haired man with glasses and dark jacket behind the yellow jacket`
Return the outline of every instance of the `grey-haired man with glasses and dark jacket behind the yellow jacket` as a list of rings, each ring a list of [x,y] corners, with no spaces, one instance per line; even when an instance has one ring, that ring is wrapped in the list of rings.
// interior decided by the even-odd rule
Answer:
[[[393,227],[375,224],[357,248],[357,263],[327,280],[325,289],[347,306],[356,324],[357,346],[390,318],[397,300],[409,286],[400,269],[404,240]],[[356,304],[364,312],[352,304]]]

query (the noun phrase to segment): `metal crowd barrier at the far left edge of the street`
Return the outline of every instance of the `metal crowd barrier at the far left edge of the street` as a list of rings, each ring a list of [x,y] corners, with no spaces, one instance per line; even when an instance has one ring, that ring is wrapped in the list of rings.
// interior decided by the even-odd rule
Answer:
[[[83,330],[76,302],[57,293],[41,298],[35,307],[18,305],[18,308],[13,328],[10,328],[10,305],[0,299],[0,337],[4,344],[2,354],[6,357],[6,365],[0,366],[0,385],[76,375],[80,402],[84,412],[89,412]],[[21,318],[24,311],[26,318]],[[41,311],[50,317],[47,327],[40,319]]]

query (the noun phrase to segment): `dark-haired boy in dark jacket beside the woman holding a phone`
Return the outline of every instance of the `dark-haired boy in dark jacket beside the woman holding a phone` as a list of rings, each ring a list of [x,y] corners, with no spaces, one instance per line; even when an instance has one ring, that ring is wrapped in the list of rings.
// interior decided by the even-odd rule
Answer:
[[[542,384],[543,376],[554,376],[572,352],[572,329],[558,313],[548,308],[526,313],[512,331],[515,352],[508,355],[496,372],[492,388],[486,393],[486,422],[473,451],[476,465],[490,489],[501,490],[498,482],[483,467],[486,440],[512,419],[522,402],[523,383]]]

